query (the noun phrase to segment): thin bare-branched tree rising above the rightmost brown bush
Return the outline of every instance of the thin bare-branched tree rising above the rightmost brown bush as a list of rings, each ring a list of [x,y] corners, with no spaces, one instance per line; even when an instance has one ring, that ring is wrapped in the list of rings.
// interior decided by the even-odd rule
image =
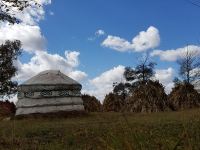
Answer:
[[[179,75],[184,82],[193,84],[200,80],[200,55],[197,50],[189,51],[187,48],[177,63],[180,66]]]

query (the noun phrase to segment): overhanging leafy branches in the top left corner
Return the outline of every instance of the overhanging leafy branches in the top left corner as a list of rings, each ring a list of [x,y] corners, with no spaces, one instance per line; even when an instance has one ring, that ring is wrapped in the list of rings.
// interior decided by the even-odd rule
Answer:
[[[15,17],[15,13],[34,5],[40,7],[35,0],[0,0],[0,20],[12,24],[19,23],[20,20]]]

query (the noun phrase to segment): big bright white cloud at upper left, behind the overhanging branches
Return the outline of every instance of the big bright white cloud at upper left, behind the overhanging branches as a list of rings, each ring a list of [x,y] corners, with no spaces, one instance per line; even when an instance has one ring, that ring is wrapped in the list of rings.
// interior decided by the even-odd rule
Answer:
[[[14,25],[1,22],[0,44],[3,44],[5,40],[20,40],[22,42],[22,49],[25,51],[33,52],[45,49],[45,38],[41,34],[40,27],[37,23],[41,19],[44,19],[44,5],[50,4],[51,0],[37,0],[37,3],[40,6],[32,2],[32,5],[23,11],[13,8],[15,17],[22,22]]]

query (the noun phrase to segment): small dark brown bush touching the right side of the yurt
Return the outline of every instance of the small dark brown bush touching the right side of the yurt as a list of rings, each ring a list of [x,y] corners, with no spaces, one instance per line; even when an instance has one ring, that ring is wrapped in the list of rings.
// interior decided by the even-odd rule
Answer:
[[[82,95],[83,105],[88,112],[101,112],[102,105],[94,96]]]

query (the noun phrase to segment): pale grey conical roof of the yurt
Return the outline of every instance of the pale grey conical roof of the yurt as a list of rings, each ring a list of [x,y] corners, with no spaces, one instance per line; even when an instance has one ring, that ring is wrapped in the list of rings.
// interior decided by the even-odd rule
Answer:
[[[46,70],[19,86],[20,91],[81,89],[81,84],[59,70]]]

